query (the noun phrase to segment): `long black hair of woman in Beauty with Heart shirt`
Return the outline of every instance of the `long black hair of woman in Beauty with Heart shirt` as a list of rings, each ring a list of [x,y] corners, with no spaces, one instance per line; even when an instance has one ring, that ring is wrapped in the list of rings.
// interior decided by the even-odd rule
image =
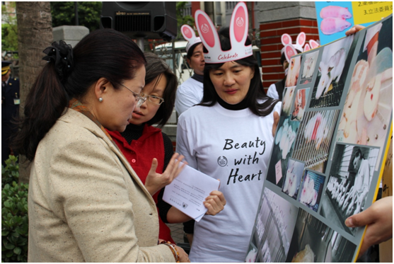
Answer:
[[[219,39],[221,43],[221,49],[231,50],[230,42],[230,30],[228,27],[221,28],[218,32]],[[250,45],[252,42],[249,38],[246,39],[245,45]],[[204,47],[204,52],[207,50]],[[262,86],[262,81],[260,79],[260,69],[257,64],[257,60],[253,55],[245,57],[243,59],[238,59],[235,62],[246,67],[250,67],[255,70],[255,75],[250,80],[250,87],[248,93],[245,96],[245,104],[255,115],[266,116],[270,115],[274,106],[279,102],[279,100],[274,100],[267,96]],[[215,91],[214,84],[212,84],[211,78],[209,77],[209,71],[212,69],[218,69],[223,63],[205,63],[204,67],[204,96],[202,97],[202,102],[199,105],[212,106],[218,101],[218,94]],[[263,101],[263,103],[261,103]]]

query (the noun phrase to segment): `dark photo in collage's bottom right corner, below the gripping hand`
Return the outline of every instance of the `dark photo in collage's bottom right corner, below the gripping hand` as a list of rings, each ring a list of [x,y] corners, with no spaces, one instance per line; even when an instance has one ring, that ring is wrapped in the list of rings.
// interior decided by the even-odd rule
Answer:
[[[356,245],[299,209],[286,262],[351,262]]]

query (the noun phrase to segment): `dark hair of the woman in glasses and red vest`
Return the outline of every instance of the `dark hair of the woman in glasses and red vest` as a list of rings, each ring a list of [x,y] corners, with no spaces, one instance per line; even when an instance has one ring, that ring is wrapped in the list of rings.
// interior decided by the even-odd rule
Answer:
[[[155,81],[156,78],[156,84],[154,84],[153,89],[156,88],[160,78],[165,77],[167,81],[167,85],[163,93],[164,102],[161,103],[156,115],[147,122],[148,125],[158,124],[158,127],[163,127],[163,125],[166,125],[166,122],[170,119],[170,116],[173,113],[178,79],[175,74],[173,74],[173,71],[171,71],[168,64],[166,64],[166,62],[156,54],[145,52],[144,55],[146,58],[145,86],[146,84],[150,84],[152,81]]]

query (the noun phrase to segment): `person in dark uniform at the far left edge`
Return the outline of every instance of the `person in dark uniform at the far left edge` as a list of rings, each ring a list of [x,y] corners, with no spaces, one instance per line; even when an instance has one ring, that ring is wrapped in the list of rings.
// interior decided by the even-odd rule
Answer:
[[[1,164],[15,152],[9,147],[10,137],[18,130],[13,117],[19,114],[19,79],[11,78],[11,62],[1,62]]]

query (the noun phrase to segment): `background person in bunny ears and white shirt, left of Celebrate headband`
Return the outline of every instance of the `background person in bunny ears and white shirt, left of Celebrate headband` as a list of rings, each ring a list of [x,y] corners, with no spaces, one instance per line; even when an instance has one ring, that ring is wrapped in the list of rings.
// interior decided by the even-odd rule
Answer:
[[[202,54],[202,42],[199,37],[195,38],[195,33],[191,28],[189,30],[191,30],[194,38],[190,38],[189,42],[187,42],[186,61],[195,74],[178,87],[175,98],[175,110],[178,115],[182,114],[193,105],[200,103],[203,93],[202,81],[204,79],[205,60],[204,54]],[[183,30],[181,32],[184,38],[186,38]]]

